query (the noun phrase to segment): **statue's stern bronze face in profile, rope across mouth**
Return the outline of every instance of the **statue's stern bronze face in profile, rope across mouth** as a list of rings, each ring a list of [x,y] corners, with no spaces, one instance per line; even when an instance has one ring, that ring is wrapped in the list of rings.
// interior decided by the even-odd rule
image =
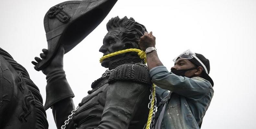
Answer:
[[[121,32],[122,31],[120,29],[114,29],[107,33],[107,35],[103,39],[103,45],[99,49],[99,52],[102,52],[103,56],[123,50],[125,48],[125,45],[124,43],[122,43],[121,40]],[[107,68],[110,61],[122,58],[123,56],[123,54],[120,54],[107,58],[102,61],[101,66]]]

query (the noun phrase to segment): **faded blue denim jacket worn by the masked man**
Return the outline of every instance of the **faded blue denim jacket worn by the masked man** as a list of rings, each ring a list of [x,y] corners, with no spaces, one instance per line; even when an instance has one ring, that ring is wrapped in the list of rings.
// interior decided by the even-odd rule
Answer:
[[[161,129],[200,129],[199,125],[214,93],[210,82],[201,77],[188,78],[175,75],[168,72],[165,66],[157,66],[149,73],[152,82],[158,86],[156,87],[158,110],[155,121],[163,105],[167,104]]]

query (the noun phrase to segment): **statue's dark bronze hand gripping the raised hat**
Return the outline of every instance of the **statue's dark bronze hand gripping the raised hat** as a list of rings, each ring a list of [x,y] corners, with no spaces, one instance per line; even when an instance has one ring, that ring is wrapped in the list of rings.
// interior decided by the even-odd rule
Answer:
[[[48,50],[47,49],[42,49],[42,52],[40,54],[40,57],[35,57],[35,61],[32,61],[31,63],[36,65],[38,62],[40,62],[41,60],[44,60],[48,54]],[[51,63],[46,66],[44,69],[42,69],[43,74],[47,75],[50,72],[56,71],[56,70],[60,70],[63,69],[63,55],[64,55],[64,47],[63,45],[60,45],[55,57],[52,59]]]

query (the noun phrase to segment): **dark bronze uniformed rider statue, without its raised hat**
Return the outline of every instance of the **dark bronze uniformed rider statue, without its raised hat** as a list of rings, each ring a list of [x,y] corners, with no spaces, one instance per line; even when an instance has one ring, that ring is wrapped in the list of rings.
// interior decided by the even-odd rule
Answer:
[[[128,48],[139,48],[138,41],[146,32],[144,25],[133,18],[112,18],[107,23],[108,33],[99,49],[103,55]],[[48,56],[42,50],[41,62]],[[63,70],[64,47],[60,45],[51,63],[42,69],[47,78],[46,109],[51,107],[58,129],[143,129],[148,116],[150,87],[152,85],[144,60],[136,52],[107,58],[101,65],[109,68],[91,85],[92,90],[75,108],[74,94]],[[37,62],[32,62],[34,65]],[[75,109],[75,110],[74,110]],[[72,119],[67,119],[72,111]]]

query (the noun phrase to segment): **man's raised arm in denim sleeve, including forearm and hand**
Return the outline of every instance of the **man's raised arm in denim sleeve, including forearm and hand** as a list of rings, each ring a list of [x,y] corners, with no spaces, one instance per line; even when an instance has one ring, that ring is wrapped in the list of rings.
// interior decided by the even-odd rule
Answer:
[[[152,32],[149,34],[145,32],[140,38],[139,45],[143,51],[148,47],[155,47],[156,38],[152,35]],[[162,89],[196,98],[205,94],[211,87],[211,84],[203,78],[196,77],[191,79],[168,72],[158,58],[157,51],[152,51],[146,56],[152,82]]]

